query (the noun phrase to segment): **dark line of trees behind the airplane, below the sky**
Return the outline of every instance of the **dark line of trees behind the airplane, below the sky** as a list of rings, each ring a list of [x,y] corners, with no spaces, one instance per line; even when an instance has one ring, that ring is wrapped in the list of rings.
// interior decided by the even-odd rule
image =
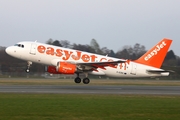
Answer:
[[[71,48],[80,51],[86,51],[90,53],[96,53],[100,55],[121,58],[121,59],[130,59],[135,60],[138,59],[146,52],[146,48],[144,45],[140,45],[136,43],[134,46],[123,46],[121,50],[114,52],[112,49],[108,49],[107,47],[100,47],[98,42],[95,39],[90,41],[90,44],[77,44],[70,43],[68,40],[53,40],[49,39],[46,41],[47,44],[60,46],[64,48]],[[13,58],[5,53],[5,47],[0,47],[0,76],[4,74],[11,74],[17,76],[24,76],[26,73],[24,70],[27,67],[27,62],[22,61],[16,58]],[[176,71],[176,75],[180,75],[180,58],[176,56],[173,50],[170,50],[165,58],[163,66],[166,69],[173,69]],[[41,64],[33,63],[31,67],[31,73],[34,74],[43,74],[45,66]]]

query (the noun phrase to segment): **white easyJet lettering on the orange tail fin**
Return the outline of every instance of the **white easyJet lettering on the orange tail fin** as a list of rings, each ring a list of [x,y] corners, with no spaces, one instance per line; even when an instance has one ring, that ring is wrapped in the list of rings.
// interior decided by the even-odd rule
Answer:
[[[145,56],[144,60],[148,61],[153,56],[157,55],[161,49],[163,49],[166,46],[165,41],[163,41],[161,44],[157,45],[154,50],[152,50],[147,56]]]

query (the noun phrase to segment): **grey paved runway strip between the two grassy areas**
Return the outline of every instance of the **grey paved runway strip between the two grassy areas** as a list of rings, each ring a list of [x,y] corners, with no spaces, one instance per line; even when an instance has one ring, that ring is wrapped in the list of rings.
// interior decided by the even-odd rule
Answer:
[[[3,85],[1,93],[180,95],[180,86]]]

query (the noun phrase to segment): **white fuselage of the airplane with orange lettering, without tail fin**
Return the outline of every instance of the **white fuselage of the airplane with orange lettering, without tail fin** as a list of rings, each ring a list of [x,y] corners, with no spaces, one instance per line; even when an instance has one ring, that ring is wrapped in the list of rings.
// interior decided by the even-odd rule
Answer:
[[[122,59],[112,58],[108,56],[97,55],[68,48],[62,48],[52,45],[47,45],[38,42],[19,42],[15,46],[10,46],[6,52],[16,58],[31,61],[35,63],[45,64],[49,66],[57,66],[57,62],[65,61],[72,64],[88,63],[88,62],[107,62],[117,61]],[[165,73],[149,73],[147,70],[161,70],[159,68],[139,64],[133,61],[119,63],[116,68],[105,67],[98,68],[97,71],[89,72],[95,75],[106,75],[110,77],[154,77],[167,76]]]

